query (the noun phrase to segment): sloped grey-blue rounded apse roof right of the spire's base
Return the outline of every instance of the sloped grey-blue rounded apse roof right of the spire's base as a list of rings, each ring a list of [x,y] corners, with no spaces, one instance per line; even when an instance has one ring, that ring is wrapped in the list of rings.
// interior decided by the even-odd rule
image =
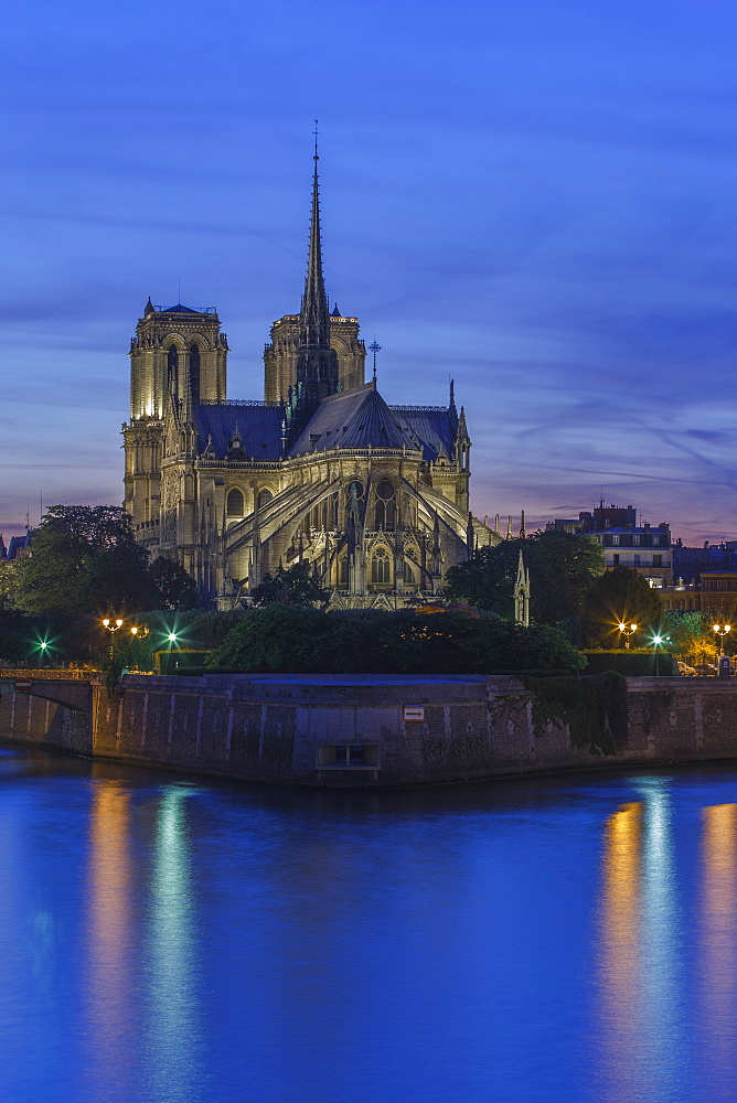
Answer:
[[[295,441],[290,456],[370,446],[418,448],[373,383],[323,398]]]

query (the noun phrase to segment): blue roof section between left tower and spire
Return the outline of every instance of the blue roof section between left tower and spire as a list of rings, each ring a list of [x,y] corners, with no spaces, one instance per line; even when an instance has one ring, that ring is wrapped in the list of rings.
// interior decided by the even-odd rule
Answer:
[[[202,403],[194,408],[197,452],[204,452],[207,437],[212,437],[215,454],[222,459],[237,427],[246,457],[253,457],[254,460],[278,460],[281,457],[281,418],[280,406]]]

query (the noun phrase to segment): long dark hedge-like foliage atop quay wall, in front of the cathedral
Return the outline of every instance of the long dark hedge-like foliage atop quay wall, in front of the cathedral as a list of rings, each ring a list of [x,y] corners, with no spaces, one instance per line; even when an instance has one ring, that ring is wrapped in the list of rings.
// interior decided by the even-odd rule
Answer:
[[[323,613],[273,603],[246,612],[211,665],[282,674],[489,674],[577,672],[585,660],[547,627],[409,610]]]

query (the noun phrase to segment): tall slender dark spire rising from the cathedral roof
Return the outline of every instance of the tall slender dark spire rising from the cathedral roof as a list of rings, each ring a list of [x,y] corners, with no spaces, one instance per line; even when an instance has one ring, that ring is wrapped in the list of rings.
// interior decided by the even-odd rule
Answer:
[[[322,272],[318,161],[316,127],[310,248],[297,339],[297,382],[305,384],[306,405],[312,409],[338,390],[338,356],[330,347],[330,306]]]

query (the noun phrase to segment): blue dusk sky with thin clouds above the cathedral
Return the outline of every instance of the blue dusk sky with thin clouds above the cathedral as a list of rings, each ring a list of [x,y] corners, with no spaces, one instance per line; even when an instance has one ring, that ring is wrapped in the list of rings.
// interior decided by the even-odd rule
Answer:
[[[0,46],[0,531],[119,503],[150,296],[216,307],[228,397],[297,312],[319,119],[328,293],[389,403],[473,441],[478,516],[600,493],[737,538],[727,0],[13,8]]]

